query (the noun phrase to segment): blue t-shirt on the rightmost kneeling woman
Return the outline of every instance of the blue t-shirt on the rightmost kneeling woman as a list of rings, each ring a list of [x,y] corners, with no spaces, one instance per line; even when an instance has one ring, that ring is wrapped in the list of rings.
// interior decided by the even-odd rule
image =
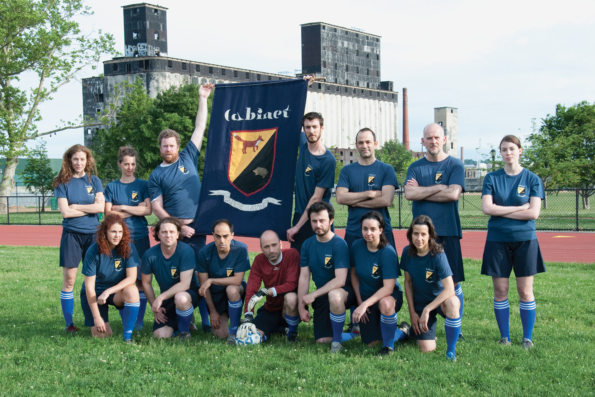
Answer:
[[[400,268],[411,277],[415,310],[421,312],[444,290],[441,280],[452,276],[452,272],[443,252],[409,256],[408,249],[409,246],[403,248]]]

